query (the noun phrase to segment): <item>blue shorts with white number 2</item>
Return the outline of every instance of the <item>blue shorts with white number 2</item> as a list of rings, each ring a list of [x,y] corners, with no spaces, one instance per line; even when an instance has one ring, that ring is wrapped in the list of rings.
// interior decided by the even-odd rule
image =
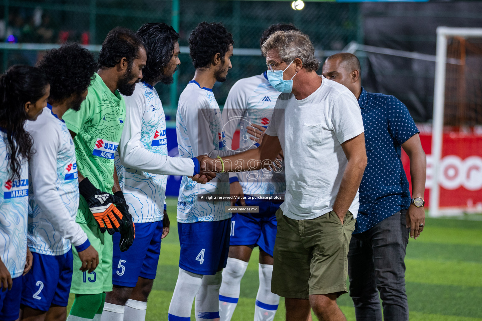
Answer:
[[[63,255],[32,252],[32,269],[24,275],[22,305],[48,311],[52,304],[67,307],[72,282],[72,249]]]

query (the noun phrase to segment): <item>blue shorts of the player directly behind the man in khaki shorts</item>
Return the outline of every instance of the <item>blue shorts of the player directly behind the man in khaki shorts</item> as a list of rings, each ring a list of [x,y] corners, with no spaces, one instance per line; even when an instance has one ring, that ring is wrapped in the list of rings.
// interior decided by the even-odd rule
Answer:
[[[229,245],[258,245],[273,256],[276,239],[276,211],[281,203],[249,202],[247,206],[259,206],[259,213],[233,213]]]

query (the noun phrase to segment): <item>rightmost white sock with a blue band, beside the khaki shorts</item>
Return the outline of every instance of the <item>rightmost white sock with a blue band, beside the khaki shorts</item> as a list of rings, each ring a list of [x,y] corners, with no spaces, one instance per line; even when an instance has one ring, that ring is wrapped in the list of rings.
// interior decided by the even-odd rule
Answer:
[[[254,321],[272,321],[280,303],[280,297],[271,292],[273,266],[259,264],[258,273],[259,288],[254,307]]]

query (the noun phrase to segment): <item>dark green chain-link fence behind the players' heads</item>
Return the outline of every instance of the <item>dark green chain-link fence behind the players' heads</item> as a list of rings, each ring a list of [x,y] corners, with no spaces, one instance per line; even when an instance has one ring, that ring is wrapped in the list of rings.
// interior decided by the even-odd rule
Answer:
[[[308,34],[321,55],[326,50],[339,51],[350,41],[362,41],[358,3],[307,2],[303,10],[295,11],[289,1],[179,0],[176,17],[173,17],[176,12],[172,10],[171,0],[3,0],[2,4],[0,38],[11,43],[79,41],[84,45],[101,44],[115,26],[136,30],[146,22],[173,24],[174,18],[179,21],[180,45],[187,46],[189,34],[198,23],[222,22],[233,34],[235,48],[255,50],[235,55],[228,80],[214,86],[220,105],[224,104],[234,82],[266,69],[259,51],[259,38],[271,24],[295,24]],[[35,64],[42,54],[41,50],[3,49],[1,66],[5,69],[12,64]],[[166,114],[171,117],[177,97],[194,75],[187,52],[180,55],[180,60],[175,94],[170,94],[170,86],[156,87]]]

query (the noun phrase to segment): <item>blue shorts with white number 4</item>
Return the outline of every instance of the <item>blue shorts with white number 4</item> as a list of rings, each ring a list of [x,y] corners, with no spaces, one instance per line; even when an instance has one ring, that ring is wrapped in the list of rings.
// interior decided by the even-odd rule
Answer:
[[[214,275],[226,267],[231,219],[214,222],[177,223],[181,255],[179,268]]]

